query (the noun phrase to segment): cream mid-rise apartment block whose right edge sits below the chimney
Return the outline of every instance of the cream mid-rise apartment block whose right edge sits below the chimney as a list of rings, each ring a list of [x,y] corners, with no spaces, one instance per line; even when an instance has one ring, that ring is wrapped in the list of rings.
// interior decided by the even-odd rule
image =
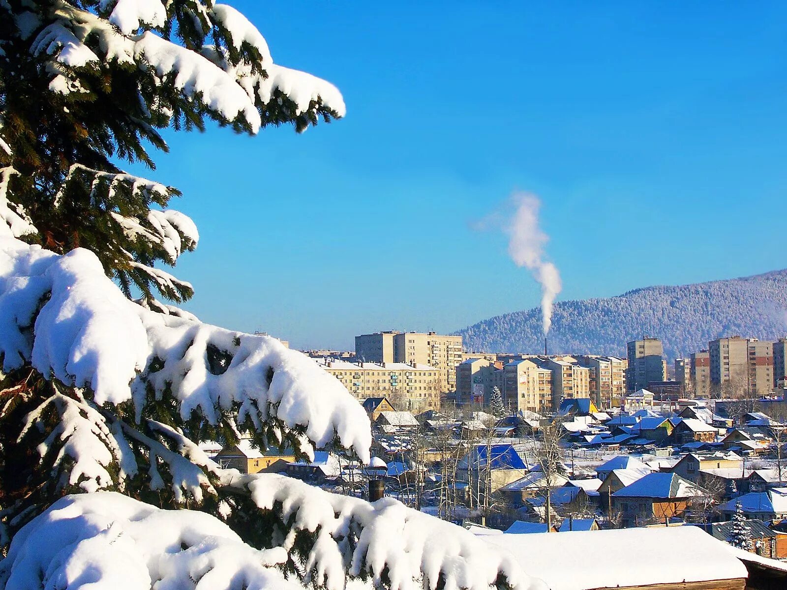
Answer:
[[[552,371],[539,367],[532,360],[515,360],[502,369],[503,400],[512,411],[550,411],[552,400]]]

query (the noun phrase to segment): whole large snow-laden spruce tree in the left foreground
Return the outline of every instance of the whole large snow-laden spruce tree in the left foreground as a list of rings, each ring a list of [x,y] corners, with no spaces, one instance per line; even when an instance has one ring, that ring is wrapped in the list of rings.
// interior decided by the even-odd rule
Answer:
[[[174,187],[123,166],[154,169],[166,129],[304,131],[344,112],[231,6],[0,0],[0,588],[531,585],[400,503],[201,449],[249,437],[365,463],[371,433],[316,363],[167,302],[193,289],[161,265],[198,231],[167,208]]]

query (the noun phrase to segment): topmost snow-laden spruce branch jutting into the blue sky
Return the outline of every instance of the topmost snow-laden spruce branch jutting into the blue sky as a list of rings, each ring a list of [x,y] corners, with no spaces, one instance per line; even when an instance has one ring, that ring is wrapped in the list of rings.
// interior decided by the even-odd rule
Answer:
[[[253,132],[265,124],[296,119],[302,131],[316,123],[318,114],[325,120],[345,115],[342,95],[332,84],[275,65],[260,31],[231,6],[193,0],[168,2],[165,7],[158,0],[119,0],[102,2],[98,13],[91,13],[65,0],[50,4],[50,24],[31,31],[30,20],[25,20],[18,35],[31,37],[33,55],[49,57],[54,92],[87,92],[79,68],[114,63],[137,65],[154,77],[154,83],[169,84],[220,120],[242,121]],[[161,30],[176,14],[185,18],[187,13],[194,20],[187,28],[185,20],[178,24],[182,33],[191,35],[190,44],[200,38],[222,44],[205,44],[205,54],[200,55],[150,30]],[[146,104],[152,112],[167,111],[160,107]],[[282,108],[286,112],[279,113]]]

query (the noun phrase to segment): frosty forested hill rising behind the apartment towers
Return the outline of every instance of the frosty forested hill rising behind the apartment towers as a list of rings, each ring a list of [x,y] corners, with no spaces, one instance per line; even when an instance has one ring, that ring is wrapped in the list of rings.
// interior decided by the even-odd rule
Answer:
[[[467,351],[544,350],[541,309],[485,319],[459,330]],[[719,336],[775,339],[787,335],[787,269],[684,286],[634,289],[618,297],[555,305],[549,352],[626,355],[626,342],[660,337],[672,360]]]

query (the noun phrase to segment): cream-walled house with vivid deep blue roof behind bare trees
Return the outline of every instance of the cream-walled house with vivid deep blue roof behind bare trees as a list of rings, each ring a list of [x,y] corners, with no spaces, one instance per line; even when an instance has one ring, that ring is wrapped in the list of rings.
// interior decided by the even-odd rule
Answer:
[[[456,480],[489,493],[523,478],[527,465],[512,444],[476,444],[456,464]],[[487,490],[488,488],[488,490]]]

